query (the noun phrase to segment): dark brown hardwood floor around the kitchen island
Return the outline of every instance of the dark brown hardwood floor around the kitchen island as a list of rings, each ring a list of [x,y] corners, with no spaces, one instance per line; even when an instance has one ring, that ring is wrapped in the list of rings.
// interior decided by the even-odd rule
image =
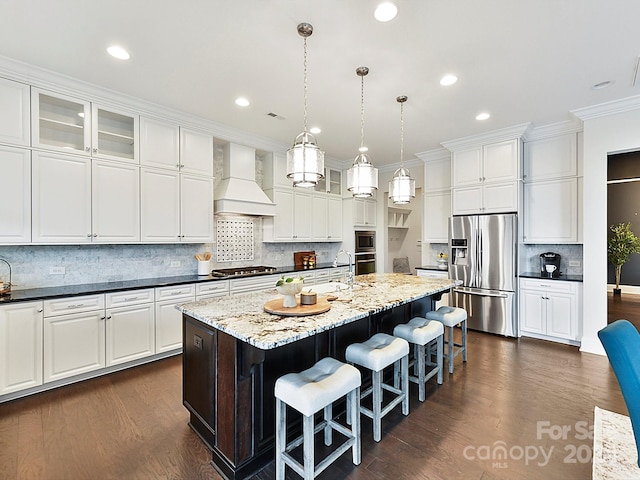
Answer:
[[[0,478],[219,479],[187,426],[181,360],[0,404]],[[409,416],[385,417],[381,442],[363,418],[360,466],[344,454],[318,478],[591,478],[594,406],[627,413],[606,357],[478,332],[424,403],[411,387]],[[273,477],[272,463],[253,479]]]

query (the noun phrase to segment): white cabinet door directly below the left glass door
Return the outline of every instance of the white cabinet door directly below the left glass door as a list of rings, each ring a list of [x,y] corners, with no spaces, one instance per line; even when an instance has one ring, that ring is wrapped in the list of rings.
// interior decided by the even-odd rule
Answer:
[[[33,152],[33,242],[91,241],[91,160]]]

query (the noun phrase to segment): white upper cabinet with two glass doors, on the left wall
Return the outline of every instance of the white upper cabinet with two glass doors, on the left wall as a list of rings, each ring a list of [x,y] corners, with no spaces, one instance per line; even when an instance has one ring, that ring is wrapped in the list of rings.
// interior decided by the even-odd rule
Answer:
[[[138,162],[138,115],[39,89],[31,109],[34,147]]]

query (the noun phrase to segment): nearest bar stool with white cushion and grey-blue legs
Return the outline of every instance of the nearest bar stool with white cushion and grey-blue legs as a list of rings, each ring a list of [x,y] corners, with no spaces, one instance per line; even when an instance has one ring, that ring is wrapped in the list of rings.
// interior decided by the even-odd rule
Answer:
[[[333,463],[344,452],[352,449],[354,465],[360,464],[360,371],[352,365],[334,358],[323,358],[313,367],[300,373],[288,373],[276,380],[276,479],[284,480],[286,465],[289,465],[305,480],[312,480]],[[351,429],[333,418],[332,404],[347,397],[347,423]],[[302,435],[287,443],[287,405],[303,415]],[[314,426],[314,415],[324,409],[324,420]],[[354,414],[353,417],[349,417]],[[324,430],[324,443],[332,442],[332,431],[337,430],[347,437],[318,466],[314,459],[314,437]],[[290,452],[302,444],[303,464],[295,460]]]

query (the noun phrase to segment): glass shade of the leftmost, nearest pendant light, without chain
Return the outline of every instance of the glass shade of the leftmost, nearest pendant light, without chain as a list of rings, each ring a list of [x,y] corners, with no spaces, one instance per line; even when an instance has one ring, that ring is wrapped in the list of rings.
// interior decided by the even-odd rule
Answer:
[[[294,187],[314,187],[324,178],[324,152],[310,133],[302,132],[287,150],[287,178]]]

